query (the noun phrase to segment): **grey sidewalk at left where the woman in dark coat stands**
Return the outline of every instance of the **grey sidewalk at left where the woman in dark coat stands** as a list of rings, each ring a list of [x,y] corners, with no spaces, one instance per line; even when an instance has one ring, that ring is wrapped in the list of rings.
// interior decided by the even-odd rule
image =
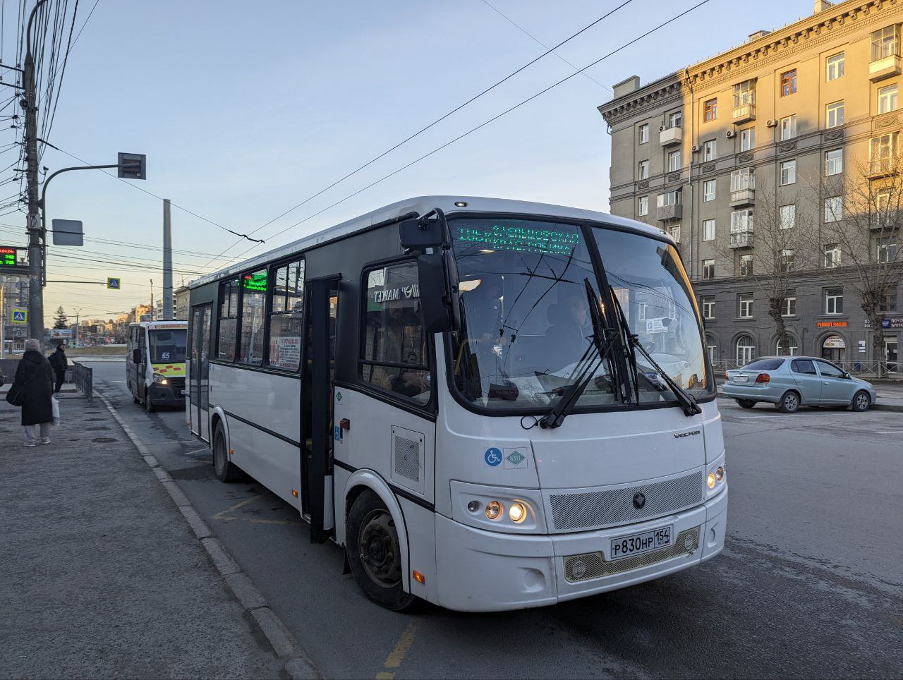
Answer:
[[[0,401],[0,675],[284,676],[103,402],[64,395],[35,448],[19,419]]]

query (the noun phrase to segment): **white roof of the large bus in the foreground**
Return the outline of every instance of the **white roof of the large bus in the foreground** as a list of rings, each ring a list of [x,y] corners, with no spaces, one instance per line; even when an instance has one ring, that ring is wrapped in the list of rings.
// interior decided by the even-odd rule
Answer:
[[[456,203],[465,203],[466,205],[455,205]],[[462,212],[511,212],[566,219],[591,219],[597,222],[633,228],[637,231],[646,232],[658,237],[662,236],[662,230],[659,228],[650,227],[649,225],[634,219],[620,218],[595,210],[568,208],[552,203],[534,203],[529,200],[489,199],[479,196],[418,196],[413,199],[399,200],[396,203],[392,203],[391,205],[387,205],[377,210],[372,210],[357,218],[349,219],[335,227],[323,229],[322,231],[287,243],[284,246],[276,247],[262,255],[251,257],[244,262],[239,262],[235,265],[230,265],[224,269],[213,272],[212,274],[201,276],[199,279],[192,281],[190,287],[197,288],[200,285],[209,284],[220,278],[236,275],[239,272],[243,272],[257,265],[263,265],[272,260],[279,260],[283,257],[292,256],[299,251],[319,246],[336,238],[349,236],[358,231],[364,231],[375,224],[401,217],[409,212],[425,215],[430,210],[433,210],[433,208],[439,208],[447,214]]]

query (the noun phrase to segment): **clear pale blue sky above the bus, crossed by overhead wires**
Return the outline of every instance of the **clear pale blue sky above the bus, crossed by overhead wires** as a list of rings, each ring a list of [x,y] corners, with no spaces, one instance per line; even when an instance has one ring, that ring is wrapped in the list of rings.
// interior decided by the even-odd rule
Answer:
[[[489,0],[549,46],[622,1]],[[69,2],[71,11],[74,0]],[[633,0],[558,53],[582,67],[695,2]],[[33,0],[26,4],[33,6]],[[14,63],[18,2],[5,0],[4,5],[3,60],[8,64]],[[93,0],[79,0],[77,27],[93,5]],[[610,144],[596,107],[610,99],[610,90],[599,83],[610,87],[631,74],[643,82],[656,79],[743,42],[748,33],[811,14],[812,3],[759,2],[754,14],[768,17],[768,23],[750,23],[753,13],[735,9],[727,0],[710,0],[588,70],[592,79],[576,76],[386,182],[267,240],[249,255],[421,194],[497,196],[606,210]],[[133,182],[136,186],[247,232],[543,51],[483,0],[99,0],[70,54],[48,141],[90,163],[115,163],[118,151],[147,154],[150,179]],[[572,72],[554,55],[545,57],[258,236],[269,239]],[[0,131],[8,141],[13,133]],[[0,136],[0,144],[6,141]],[[43,158],[51,172],[73,163],[50,148]],[[83,220],[89,237],[151,247],[161,243],[161,202],[100,172],[54,180],[48,208],[49,218]],[[237,240],[181,210],[173,209],[172,222],[173,247],[209,254],[174,256],[186,281],[196,277],[191,272],[210,271],[212,267],[201,265]],[[0,217],[0,241],[22,244],[18,235],[23,227],[21,213]],[[228,254],[238,256],[250,245],[232,247]],[[149,299],[151,278],[154,292],[160,292],[159,270],[57,255],[116,262],[160,257],[153,250],[89,241],[82,248],[51,247],[51,279],[120,275],[123,290],[50,284],[45,321],[59,304],[68,312],[81,307],[82,315],[113,316]],[[181,280],[177,273],[175,284]]]

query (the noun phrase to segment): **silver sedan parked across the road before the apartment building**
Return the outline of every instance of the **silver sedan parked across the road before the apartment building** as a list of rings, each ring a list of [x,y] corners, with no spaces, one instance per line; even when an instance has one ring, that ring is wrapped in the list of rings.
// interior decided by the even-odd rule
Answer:
[[[721,395],[743,408],[759,402],[793,413],[804,406],[852,406],[868,411],[878,398],[871,383],[817,357],[761,357],[725,374]]]

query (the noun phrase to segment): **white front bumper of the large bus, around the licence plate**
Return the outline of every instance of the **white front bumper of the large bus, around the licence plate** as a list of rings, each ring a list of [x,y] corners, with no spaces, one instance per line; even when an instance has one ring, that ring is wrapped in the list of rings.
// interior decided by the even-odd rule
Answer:
[[[552,536],[490,532],[437,514],[438,604],[461,611],[542,607],[679,572],[721,553],[727,507],[728,489],[725,487],[702,506],[674,515],[634,525]],[[652,554],[639,555],[609,562],[596,556],[608,554],[610,541],[614,538],[664,526],[673,527],[673,544],[682,532],[688,532],[684,536],[693,536],[693,530],[698,527],[693,552],[666,554],[660,559]],[[568,569],[565,569],[565,560]],[[575,568],[574,560],[580,560],[583,568]],[[651,560],[655,561],[645,564]],[[605,570],[622,571],[597,575]]]

